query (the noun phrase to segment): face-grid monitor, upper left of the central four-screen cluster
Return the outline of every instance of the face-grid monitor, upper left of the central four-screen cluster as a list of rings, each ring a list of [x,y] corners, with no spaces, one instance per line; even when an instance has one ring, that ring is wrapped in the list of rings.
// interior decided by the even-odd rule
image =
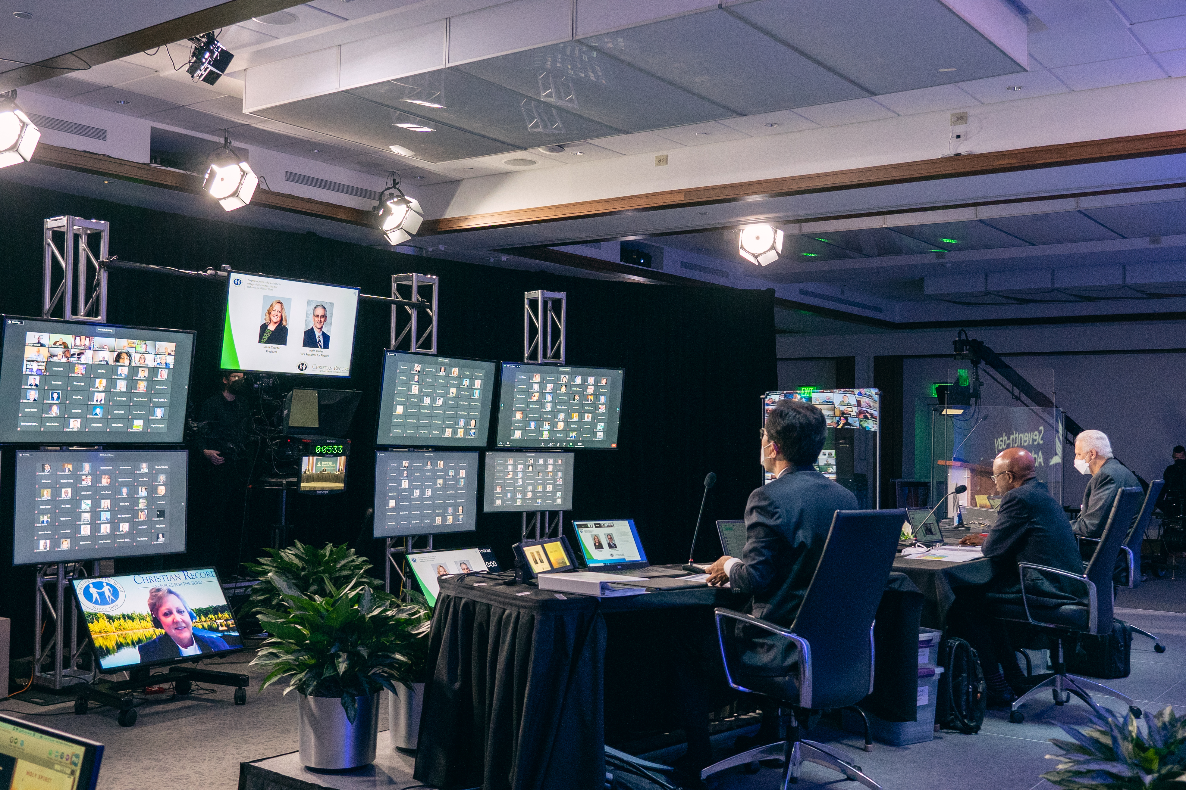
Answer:
[[[497,364],[389,351],[378,445],[486,447]]]

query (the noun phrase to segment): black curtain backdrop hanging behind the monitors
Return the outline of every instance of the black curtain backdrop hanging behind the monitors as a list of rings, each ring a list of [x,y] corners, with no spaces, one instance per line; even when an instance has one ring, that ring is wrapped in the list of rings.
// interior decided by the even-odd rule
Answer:
[[[713,287],[640,285],[542,271],[519,271],[406,256],[310,233],[244,227],[230,223],[125,206],[36,187],[0,182],[0,311],[39,315],[42,223],[74,214],[111,223],[111,253],[125,261],[181,269],[230,265],[238,270],[359,287],[390,294],[390,276],[439,275],[439,352],[445,355],[518,361],[523,357],[523,293],[568,294],[567,360],[621,367],[625,390],[617,450],[576,450],[573,519],[633,518],[651,561],[687,559],[706,473],[718,474],[709,493],[696,559],[715,559],[713,522],[744,513],[760,483],[757,463],[759,398],[777,388],[772,291]],[[376,235],[376,242],[378,236]],[[197,332],[191,407],[216,393],[224,288],[192,278],[136,271],[110,275],[108,320],[113,323]],[[283,377],[285,385],[362,391],[352,439],[347,490],[340,496],[289,494],[291,537],[306,542],[356,544],[382,573],[382,541],[361,537],[374,505],[375,430],[381,360],[389,341],[390,308],[359,304],[352,375],[349,379]],[[11,407],[11,406],[9,406]],[[497,410],[497,403],[495,405]],[[491,437],[492,438],[492,437]],[[204,463],[191,454],[191,465]],[[13,655],[32,647],[32,567],[12,569],[12,449],[2,465],[0,519],[0,616],[13,618]],[[219,494],[202,490],[191,471],[190,554],[116,561],[117,572],[192,566],[215,534],[210,506]],[[244,560],[268,545],[276,521],[274,492],[250,495]],[[444,535],[438,548],[489,545],[509,565],[518,540],[518,514],[482,514],[477,533]],[[570,535],[572,537],[572,535]]]

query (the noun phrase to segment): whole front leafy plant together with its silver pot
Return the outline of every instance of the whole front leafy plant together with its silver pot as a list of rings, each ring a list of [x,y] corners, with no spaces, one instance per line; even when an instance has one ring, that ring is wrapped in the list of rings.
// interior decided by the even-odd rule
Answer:
[[[431,628],[427,606],[376,592],[361,578],[305,595],[276,573],[285,610],[263,610],[269,637],[253,666],[268,670],[263,691],[283,677],[300,694],[300,760],[346,770],[375,760],[378,692],[409,683],[415,651]]]

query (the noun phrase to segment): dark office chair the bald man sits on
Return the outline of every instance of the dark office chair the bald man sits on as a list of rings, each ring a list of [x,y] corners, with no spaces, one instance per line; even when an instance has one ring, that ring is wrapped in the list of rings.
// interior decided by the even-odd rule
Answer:
[[[1018,573],[1021,577],[1021,605],[1001,606],[997,616],[1003,619],[1028,622],[1033,625],[1053,631],[1054,638],[1054,672],[1048,673],[1041,681],[1022,694],[1013,702],[1009,712],[1009,721],[1019,724],[1025,721],[1025,715],[1019,709],[1027,700],[1038,695],[1044,688],[1050,688],[1054,696],[1054,705],[1065,705],[1071,701],[1071,694],[1091,706],[1102,718],[1110,714],[1096,705],[1089,692],[1096,692],[1107,696],[1115,696],[1124,700],[1134,715],[1140,718],[1141,709],[1128,696],[1111,689],[1103,683],[1085,677],[1066,674],[1066,657],[1063,648],[1064,641],[1078,635],[1091,634],[1098,636],[1107,634],[1112,627],[1112,603],[1115,590],[1112,587],[1112,573],[1116,569],[1116,557],[1120,554],[1124,539],[1128,537],[1133,524],[1133,515],[1141,502],[1144,493],[1139,486],[1122,488],[1112,500],[1111,513],[1104,526],[1099,547],[1088,564],[1083,574],[1070,573],[1057,567],[1035,565],[1033,563],[1018,563]],[[1075,579],[1079,589],[1083,590],[1083,598],[1086,605],[1080,603],[1052,605],[1040,587],[1033,586],[1042,578]]]

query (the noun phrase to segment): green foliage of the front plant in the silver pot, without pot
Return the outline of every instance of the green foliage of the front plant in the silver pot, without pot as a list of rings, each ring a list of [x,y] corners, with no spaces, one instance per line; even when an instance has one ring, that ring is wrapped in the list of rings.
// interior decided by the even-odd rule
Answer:
[[[251,661],[268,675],[260,691],[288,677],[285,694],[340,698],[351,724],[358,717],[357,696],[395,683],[419,682],[423,675],[432,612],[423,596],[403,603],[371,590],[356,576],[345,585],[327,583],[327,595],[306,595],[280,574],[269,580],[285,608],[263,610],[260,622],[269,638]]]

